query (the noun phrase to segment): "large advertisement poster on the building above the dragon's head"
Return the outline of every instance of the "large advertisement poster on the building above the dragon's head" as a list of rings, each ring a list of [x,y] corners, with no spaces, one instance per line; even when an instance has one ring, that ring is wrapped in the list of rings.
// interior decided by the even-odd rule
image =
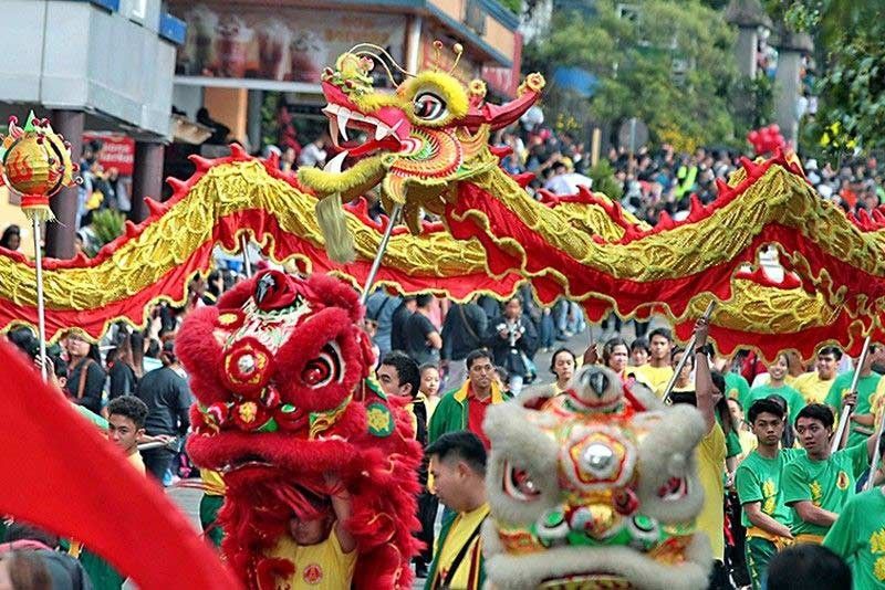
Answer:
[[[181,76],[319,83],[354,39],[403,59],[403,15],[287,7],[269,14],[267,7],[236,2],[175,2],[169,8],[187,22],[176,60]]]

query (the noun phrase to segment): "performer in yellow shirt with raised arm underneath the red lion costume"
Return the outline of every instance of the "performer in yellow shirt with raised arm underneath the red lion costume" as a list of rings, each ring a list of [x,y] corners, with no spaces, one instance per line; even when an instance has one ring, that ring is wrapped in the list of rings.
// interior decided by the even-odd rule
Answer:
[[[277,570],[277,590],[351,587],[356,567],[356,539],[345,526],[351,496],[336,475],[326,474],[325,483],[332,491],[330,502],[317,501],[313,515],[290,518],[289,530],[268,552],[292,566],[288,576]]]

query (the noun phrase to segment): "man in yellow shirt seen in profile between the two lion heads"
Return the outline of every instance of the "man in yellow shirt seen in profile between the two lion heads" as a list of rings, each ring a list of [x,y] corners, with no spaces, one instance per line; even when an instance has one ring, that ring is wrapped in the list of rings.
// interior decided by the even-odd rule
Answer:
[[[427,447],[444,517],[425,590],[479,590],[486,572],[480,528],[489,516],[486,447],[469,431],[449,432]]]

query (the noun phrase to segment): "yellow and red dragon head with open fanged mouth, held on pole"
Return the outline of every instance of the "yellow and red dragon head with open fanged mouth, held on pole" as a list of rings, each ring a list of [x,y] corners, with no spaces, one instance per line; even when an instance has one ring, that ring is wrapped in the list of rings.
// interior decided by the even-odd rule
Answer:
[[[544,78],[530,74],[519,97],[506,105],[486,103],[482,81],[466,87],[450,73],[435,70],[406,74],[393,93],[379,92],[371,72],[381,60],[361,48],[365,45],[344,53],[334,70],[323,73],[329,103],[323,112],[341,151],[323,170],[299,170],[299,179],[321,198],[337,193],[343,201],[381,183],[385,209],[403,206],[407,225],[418,233],[420,209],[441,214],[455,198],[457,181],[498,165],[488,147],[489,133],[518,120],[540,96]],[[342,171],[345,159],[353,165]]]

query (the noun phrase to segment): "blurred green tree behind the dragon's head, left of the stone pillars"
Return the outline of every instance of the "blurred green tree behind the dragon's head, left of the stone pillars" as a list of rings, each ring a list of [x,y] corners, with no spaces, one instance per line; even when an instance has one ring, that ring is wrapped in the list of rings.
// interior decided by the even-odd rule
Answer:
[[[528,67],[577,66],[598,78],[586,104],[596,120],[639,117],[653,138],[678,134],[683,145],[735,144],[730,96],[738,88],[736,33],[699,0],[645,0],[635,20],[598,0],[591,17],[554,13],[550,31],[527,46]],[[561,92],[551,88],[551,93]]]

